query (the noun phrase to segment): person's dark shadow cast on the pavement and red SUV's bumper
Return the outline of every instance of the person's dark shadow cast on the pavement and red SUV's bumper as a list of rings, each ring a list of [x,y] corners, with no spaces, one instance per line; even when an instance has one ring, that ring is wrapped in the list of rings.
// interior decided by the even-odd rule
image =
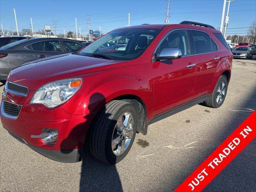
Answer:
[[[95,112],[95,107],[99,104],[97,102],[98,100],[101,100],[101,106],[106,104],[105,97],[100,93],[95,93],[90,97],[88,104],[90,112]],[[104,110],[104,107],[101,108],[101,110]],[[106,115],[110,116],[110,114]],[[86,132],[86,138],[82,138],[82,140],[84,140],[84,145],[82,142],[78,143],[79,148],[83,147],[83,150],[79,151],[80,156],[82,157],[79,191],[122,192],[122,184],[116,166],[101,162],[92,156],[89,144],[93,120],[91,121],[90,114],[86,114],[84,118],[86,119],[85,123],[77,125],[61,143],[61,148],[65,149],[67,145],[70,146],[70,138],[75,138],[78,134],[82,136],[84,135],[84,132]],[[116,124],[116,121],[113,121],[114,122],[112,123]],[[75,149],[76,146],[77,143],[73,144],[71,149]]]

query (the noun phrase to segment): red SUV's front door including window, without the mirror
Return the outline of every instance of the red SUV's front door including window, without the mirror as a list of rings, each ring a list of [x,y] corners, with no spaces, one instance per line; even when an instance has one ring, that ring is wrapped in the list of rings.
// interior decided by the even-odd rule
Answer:
[[[182,57],[153,61],[154,116],[193,99],[196,82],[196,58],[191,55],[187,30],[172,31],[158,46],[156,54],[164,48],[179,48]]]

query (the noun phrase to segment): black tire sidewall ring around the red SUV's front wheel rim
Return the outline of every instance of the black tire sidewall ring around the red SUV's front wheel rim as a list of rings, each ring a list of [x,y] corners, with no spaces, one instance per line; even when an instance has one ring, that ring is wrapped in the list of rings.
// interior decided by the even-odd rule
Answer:
[[[133,132],[132,140],[131,140],[128,148],[126,149],[126,151],[122,155],[116,156],[113,153],[112,146],[111,146],[112,134],[113,134],[113,131],[114,131],[114,128],[115,128],[118,118],[125,112],[130,112],[134,118],[134,132]],[[108,132],[107,132],[106,143],[105,143],[105,154],[106,154],[106,158],[110,164],[116,164],[116,163],[120,162],[128,154],[128,152],[130,151],[130,148],[132,147],[134,139],[135,139],[137,125],[138,125],[138,114],[137,114],[134,106],[130,103],[127,103],[124,106],[122,106],[116,112],[116,114],[114,114],[114,117],[112,118],[112,121],[111,121],[110,128],[108,129]]]

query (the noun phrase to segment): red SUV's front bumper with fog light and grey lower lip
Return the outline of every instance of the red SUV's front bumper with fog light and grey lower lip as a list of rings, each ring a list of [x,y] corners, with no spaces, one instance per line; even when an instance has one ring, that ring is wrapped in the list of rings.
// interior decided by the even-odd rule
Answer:
[[[64,163],[82,160],[89,114],[71,115],[60,107],[53,113],[41,109],[30,114],[33,109],[23,106],[16,119],[3,116],[1,111],[2,125],[14,138],[52,160]]]

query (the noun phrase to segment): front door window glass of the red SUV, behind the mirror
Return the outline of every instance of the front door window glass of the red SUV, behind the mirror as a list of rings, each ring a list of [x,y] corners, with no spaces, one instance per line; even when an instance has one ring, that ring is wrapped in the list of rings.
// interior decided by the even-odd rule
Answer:
[[[156,53],[160,53],[164,48],[178,48],[182,56],[190,55],[190,44],[188,32],[186,30],[176,30],[171,32],[157,48]]]

